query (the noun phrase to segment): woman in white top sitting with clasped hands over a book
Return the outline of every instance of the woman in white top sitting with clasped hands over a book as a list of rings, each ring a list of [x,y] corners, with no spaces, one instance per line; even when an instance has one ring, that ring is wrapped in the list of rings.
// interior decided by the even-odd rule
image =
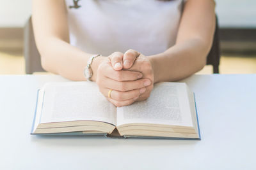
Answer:
[[[214,8],[213,0],[33,0],[32,18],[45,70],[96,81],[125,106],[205,66]]]

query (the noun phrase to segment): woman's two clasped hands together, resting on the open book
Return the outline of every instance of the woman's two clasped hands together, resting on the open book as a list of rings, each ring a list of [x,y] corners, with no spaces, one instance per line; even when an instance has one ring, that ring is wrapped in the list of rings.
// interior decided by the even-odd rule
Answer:
[[[97,67],[96,82],[100,92],[117,107],[143,101],[154,87],[152,63],[135,50],[112,53]]]

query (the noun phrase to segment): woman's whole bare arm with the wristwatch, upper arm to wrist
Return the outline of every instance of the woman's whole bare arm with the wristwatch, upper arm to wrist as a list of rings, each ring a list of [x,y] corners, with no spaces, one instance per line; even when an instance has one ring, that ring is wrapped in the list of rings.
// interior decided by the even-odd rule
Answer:
[[[69,44],[66,4],[63,0],[33,0],[32,15],[36,46],[46,71],[70,80],[85,80],[83,69],[92,56]],[[93,77],[100,57],[93,60]]]

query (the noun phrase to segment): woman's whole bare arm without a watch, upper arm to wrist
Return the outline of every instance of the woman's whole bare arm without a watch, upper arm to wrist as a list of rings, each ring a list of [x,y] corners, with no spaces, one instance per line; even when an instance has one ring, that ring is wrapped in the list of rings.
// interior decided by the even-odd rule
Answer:
[[[205,66],[216,24],[214,8],[212,0],[186,1],[176,44],[150,56],[155,82],[180,80]]]

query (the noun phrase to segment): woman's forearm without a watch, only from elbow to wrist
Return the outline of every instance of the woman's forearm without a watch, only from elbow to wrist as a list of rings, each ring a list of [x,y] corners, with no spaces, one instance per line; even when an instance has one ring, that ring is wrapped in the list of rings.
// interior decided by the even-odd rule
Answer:
[[[177,81],[196,73],[205,66],[208,47],[200,39],[188,39],[166,52],[149,56],[154,71],[154,83]]]

